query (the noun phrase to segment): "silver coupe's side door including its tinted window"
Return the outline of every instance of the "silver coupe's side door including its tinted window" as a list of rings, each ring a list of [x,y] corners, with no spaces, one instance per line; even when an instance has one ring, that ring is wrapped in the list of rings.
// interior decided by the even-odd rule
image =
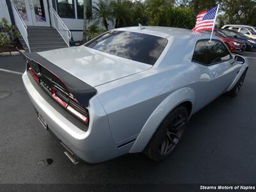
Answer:
[[[207,57],[204,65],[208,69],[210,78],[210,89],[205,102],[211,102],[227,90],[241,65],[237,65],[220,40],[212,40],[211,43],[209,40],[204,40],[204,42]]]

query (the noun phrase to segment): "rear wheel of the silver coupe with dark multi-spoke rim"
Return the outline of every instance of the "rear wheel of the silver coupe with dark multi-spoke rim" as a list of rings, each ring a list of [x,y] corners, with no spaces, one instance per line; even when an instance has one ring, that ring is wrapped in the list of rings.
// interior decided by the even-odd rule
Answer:
[[[152,136],[145,154],[154,161],[162,161],[172,154],[188,125],[188,110],[178,106],[164,119]]]

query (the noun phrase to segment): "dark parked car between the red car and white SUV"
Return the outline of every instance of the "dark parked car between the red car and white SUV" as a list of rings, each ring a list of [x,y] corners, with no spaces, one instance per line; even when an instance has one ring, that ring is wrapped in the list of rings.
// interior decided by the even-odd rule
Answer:
[[[246,44],[246,51],[255,51],[256,50],[256,40],[243,35],[242,33],[239,33],[237,31],[234,30],[230,30],[230,29],[222,29],[221,33],[231,37],[231,38],[235,38],[239,41],[243,41]]]

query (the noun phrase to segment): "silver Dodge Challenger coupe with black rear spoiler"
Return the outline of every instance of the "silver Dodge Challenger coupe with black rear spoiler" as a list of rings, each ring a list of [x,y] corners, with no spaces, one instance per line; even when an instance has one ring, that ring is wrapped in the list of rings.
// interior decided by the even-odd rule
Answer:
[[[235,97],[248,62],[209,34],[131,27],[79,47],[26,52],[22,80],[42,125],[77,163],[144,152],[161,161],[196,111]]]

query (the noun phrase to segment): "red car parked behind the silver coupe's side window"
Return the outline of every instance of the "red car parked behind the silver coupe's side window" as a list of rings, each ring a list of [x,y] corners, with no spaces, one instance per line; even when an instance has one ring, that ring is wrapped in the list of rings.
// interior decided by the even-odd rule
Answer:
[[[246,44],[244,44],[244,42],[235,40],[234,38],[230,38],[226,36],[224,33],[221,33],[221,31],[215,30],[214,34],[221,38],[221,40],[223,40],[223,42],[227,45],[230,52],[242,52],[246,49]]]

